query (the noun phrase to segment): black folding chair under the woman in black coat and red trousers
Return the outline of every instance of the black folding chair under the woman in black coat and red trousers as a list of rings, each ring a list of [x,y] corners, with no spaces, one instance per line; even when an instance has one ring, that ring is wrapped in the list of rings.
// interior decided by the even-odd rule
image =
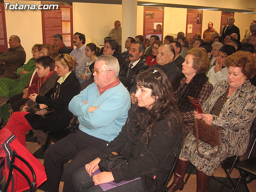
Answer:
[[[62,138],[66,137],[69,134],[74,132],[74,127],[76,125],[76,120],[77,120],[77,116],[74,116],[74,119],[71,123],[71,126],[67,127],[66,129],[58,130],[58,131],[52,131],[52,132],[50,132],[50,131],[46,132],[46,133],[48,133],[48,136],[46,138],[44,147],[42,149],[41,156],[44,155],[46,149],[50,146],[51,141],[56,143],[58,140],[61,140]]]

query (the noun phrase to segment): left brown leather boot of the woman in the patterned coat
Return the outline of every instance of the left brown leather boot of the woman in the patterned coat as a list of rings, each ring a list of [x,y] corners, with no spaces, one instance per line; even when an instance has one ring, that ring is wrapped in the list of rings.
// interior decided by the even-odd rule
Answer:
[[[178,163],[174,172],[174,180],[172,184],[167,188],[168,192],[174,192],[177,190],[183,190],[184,187],[184,175],[188,169],[189,161],[178,160]]]

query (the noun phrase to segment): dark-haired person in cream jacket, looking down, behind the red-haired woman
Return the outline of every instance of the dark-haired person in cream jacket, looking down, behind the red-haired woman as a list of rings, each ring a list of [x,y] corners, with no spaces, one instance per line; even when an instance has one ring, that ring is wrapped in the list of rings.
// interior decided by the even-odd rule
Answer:
[[[227,56],[234,52],[236,52],[236,49],[231,45],[224,45],[222,48],[220,48],[216,65],[212,66],[207,74],[209,82],[213,86],[216,85],[219,81],[228,79],[228,68],[226,67],[224,61]]]

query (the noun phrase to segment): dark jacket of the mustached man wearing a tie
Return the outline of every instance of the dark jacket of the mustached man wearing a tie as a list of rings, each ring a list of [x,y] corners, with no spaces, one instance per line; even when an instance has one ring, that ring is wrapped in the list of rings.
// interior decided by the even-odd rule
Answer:
[[[125,87],[127,87],[128,90],[133,86],[134,78],[136,75],[138,75],[140,72],[147,70],[149,65],[143,62],[142,59],[131,69],[129,76],[126,77],[126,73],[128,71],[128,67],[130,64],[130,60],[124,61],[120,65],[120,72],[119,72],[119,80],[124,84]]]

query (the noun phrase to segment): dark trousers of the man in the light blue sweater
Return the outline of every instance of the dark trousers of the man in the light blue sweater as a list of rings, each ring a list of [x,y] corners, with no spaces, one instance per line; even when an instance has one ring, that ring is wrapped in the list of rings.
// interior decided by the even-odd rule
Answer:
[[[90,136],[81,130],[59,140],[46,150],[44,167],[48,180],[39,189],[58,192],[63,164],[72,159],[64,173],[63,192],[74,192],[72,184],[73,173],[78,168],[94,160],[95,157],[92,157],[92,155],[105,148],[107,144],[107,141]]]

